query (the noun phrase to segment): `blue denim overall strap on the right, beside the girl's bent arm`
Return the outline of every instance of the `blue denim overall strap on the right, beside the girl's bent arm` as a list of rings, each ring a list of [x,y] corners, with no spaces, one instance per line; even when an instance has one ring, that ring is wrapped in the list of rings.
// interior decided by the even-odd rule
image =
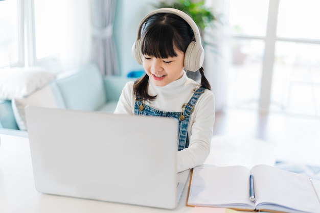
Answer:
[[[194,106],[197,103],[199,97],[204,92],[204,87],[193,89],[193,96],[188,103],[182,106],[181,113],[179,115],[179,122],[181,122],[179,130],[179,145],[178,151],[189,147],[189,138],[188,138],[188,125],[190,120],[190,115],[194,110]]]

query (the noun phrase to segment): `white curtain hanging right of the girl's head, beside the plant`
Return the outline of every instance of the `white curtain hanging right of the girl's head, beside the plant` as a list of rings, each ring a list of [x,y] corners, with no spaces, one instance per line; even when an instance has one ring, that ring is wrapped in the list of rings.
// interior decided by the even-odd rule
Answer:
[[[228,0],[206,0],[205,5],[211,7],[219,16],[222,24],[217,23],[214,29],[206,30],[205,40],[215,47],[205,47],[204,73],[208,78],[216,98],[216,111],[221,111],[227,104],[227,77],[230,66],[230,34],[228,32]]]

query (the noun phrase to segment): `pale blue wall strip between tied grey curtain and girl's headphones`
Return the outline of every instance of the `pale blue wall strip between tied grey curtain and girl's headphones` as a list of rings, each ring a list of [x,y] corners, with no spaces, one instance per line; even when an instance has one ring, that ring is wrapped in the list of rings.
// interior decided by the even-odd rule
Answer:
[[[131,48],[135,41],[136,30],[141,19],[155,8],[152,4],[156,0],[118,0],[113,27],[115,42],[118,51],[119,69],[122,76],[126,76],[132,70],[143,69],[131,55]]]

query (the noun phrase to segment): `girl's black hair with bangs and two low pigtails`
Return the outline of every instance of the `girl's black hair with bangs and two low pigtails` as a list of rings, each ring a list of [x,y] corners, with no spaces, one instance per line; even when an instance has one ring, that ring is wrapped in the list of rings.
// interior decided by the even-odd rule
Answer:
[[[187,21],[171,13],[157,13],[149,17],[142,25],[141,52],[156,58],[176,57],[174,50],[186,52],[195,35]],[[201,86],[211,89],[209,81],[204,77],[203,67],[199,69]],[[148,94],[149,76],[145,74],[134,82],[133,90],[145,100],[154,100],[156,96]]]

